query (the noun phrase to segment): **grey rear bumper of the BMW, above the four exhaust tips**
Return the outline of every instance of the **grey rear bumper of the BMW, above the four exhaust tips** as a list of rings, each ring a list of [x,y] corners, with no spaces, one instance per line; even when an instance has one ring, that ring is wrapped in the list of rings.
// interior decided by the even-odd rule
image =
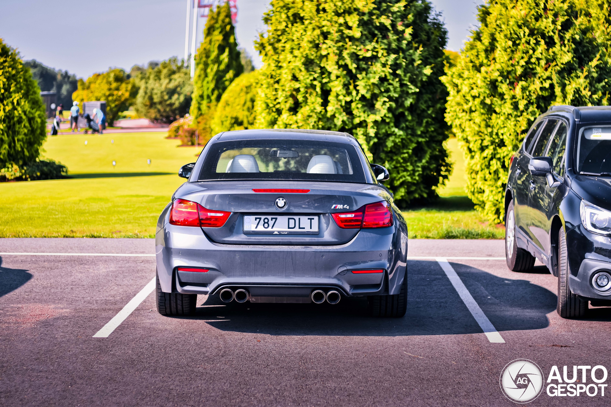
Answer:
[[[166,223],[155,242],[161,289],[182,294],[216,294],[222,287],[243,287],[252,297],[309,297],[330,287],[347,296],[398,294],[407,255],[407,237],[395,226],[362,229],[343,245],[272,246],[214,243],[200,228]]]

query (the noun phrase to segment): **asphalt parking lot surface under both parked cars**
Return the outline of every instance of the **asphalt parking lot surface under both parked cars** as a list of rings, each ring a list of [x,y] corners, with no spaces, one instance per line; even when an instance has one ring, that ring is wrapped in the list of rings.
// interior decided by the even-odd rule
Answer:
[[[357,299],[207,296],[194,317],[163,317],[144,292],[107,337],[94,336],[155,276],[153,240],[1,239],[0,253],[1,405],[513,405],[499,387],[513,359],[546,376],[554,365],[611,368],[610,309],[561,319],[556,278],[541,265],[510,272],[500,240],[410,240],[401,319],[368,317]],[[609,397],[544,391],[531,404]]]

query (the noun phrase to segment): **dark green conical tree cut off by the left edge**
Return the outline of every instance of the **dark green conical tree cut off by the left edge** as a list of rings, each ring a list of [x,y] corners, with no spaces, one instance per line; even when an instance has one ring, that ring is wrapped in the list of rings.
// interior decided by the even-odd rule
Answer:
[[[0,168],[35,162],[45,137],[40,88],[19,52],[0,38]]]

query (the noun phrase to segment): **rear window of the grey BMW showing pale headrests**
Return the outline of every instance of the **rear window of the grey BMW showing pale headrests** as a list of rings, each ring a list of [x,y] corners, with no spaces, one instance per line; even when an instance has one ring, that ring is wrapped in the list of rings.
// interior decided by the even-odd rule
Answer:
[[[236,140],[210,146],[199,181],[294,179],[366,182],[355,146],[311,140]]]

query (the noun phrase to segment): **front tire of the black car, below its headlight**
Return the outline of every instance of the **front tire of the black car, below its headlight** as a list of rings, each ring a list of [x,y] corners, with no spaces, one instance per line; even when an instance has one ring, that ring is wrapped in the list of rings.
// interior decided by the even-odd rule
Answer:
[[[588,301],[571,292],[566,256],[565,229],[560,228],[558,232],[558,306],[556,311],[563,318],[583,318],[588,311]]]

